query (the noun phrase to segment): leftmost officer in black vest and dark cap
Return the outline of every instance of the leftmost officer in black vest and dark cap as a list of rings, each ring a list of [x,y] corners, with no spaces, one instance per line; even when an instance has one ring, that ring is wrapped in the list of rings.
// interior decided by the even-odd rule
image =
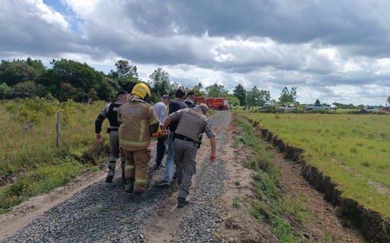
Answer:
[[[117,110],[120,105],[125,103],[129,97],[129,93],[126,90],[120,90],[117,94],[118,100],[115,103],[107,104],[104,109],[98,115],[98,118],[95,120],[95,133],[96,139],[101,141],[101,124],[104,119],[107,118],[110,122],[110,126],[107,128],[107,133],[110,137],[110,155],[108,157],[108,175],[106,177],[106,182],[113,182],[114,174],[115,174],[115,164],[117,163],[117,159],[119,157],[119,137],[118,137],[118,116]],[[124,166],[125,166],[125,158],[121,155],[121,169],[122,169],[122,183],[124,183]]]

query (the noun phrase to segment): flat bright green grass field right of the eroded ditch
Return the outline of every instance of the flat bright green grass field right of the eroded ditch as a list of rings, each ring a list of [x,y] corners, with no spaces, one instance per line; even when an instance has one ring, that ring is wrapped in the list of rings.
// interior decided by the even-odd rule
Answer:
[[[304,149],[306,161],[330,176],[344,197],[390,219],[389,115],[236,112]]]

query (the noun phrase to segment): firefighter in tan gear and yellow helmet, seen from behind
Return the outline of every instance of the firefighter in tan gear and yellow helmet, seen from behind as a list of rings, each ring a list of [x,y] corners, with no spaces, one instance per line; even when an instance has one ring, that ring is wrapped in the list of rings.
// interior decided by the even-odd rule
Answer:
[[[158,130],[159,121],[155,110],[147,101],[150,98],[149,87],[137,84],[129,100],[119,107],[119,144],[125,163],[125,191],[134,190],[134,202],[145,198],[148,182],[150,153],[150,137]]]

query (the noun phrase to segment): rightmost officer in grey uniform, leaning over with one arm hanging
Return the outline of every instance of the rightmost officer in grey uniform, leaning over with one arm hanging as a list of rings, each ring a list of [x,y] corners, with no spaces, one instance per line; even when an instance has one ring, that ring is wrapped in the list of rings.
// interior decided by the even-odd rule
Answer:
[[[211,155],[210,162],[215,161],[215,133],[210,122],[206,119],[208,107],[199,104],[194,108],[185,108],[170,114],[164,122],[162,132],[172,121],[178,121],[174,150],[176,164],[177,183],[180,185],[177,207],[182,208],[190,200],[187,197],[192,184],[192,176],[196,173],[196,153],[199,135],[206,133],[210,139]]]

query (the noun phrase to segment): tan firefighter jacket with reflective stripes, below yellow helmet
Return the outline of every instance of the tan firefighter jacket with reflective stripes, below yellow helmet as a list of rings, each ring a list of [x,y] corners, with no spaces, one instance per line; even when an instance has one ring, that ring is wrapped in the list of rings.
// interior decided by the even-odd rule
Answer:
[[[151,104],[132,94],[118,109],[119,145],[128,151],[147,148],[159,121]]]

